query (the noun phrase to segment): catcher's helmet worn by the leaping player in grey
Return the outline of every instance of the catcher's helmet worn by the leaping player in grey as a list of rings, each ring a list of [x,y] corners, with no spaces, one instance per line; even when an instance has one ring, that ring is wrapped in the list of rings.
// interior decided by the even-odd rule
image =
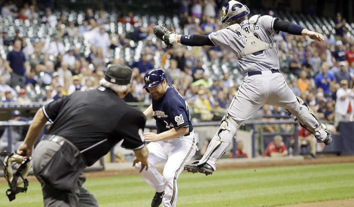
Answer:
[[[248,7],[236,0],[230,0],[226,7],[223,7],[224,16],[221,17],[221,22],[225,23],[228,20],[237,20],[250,13]]]

